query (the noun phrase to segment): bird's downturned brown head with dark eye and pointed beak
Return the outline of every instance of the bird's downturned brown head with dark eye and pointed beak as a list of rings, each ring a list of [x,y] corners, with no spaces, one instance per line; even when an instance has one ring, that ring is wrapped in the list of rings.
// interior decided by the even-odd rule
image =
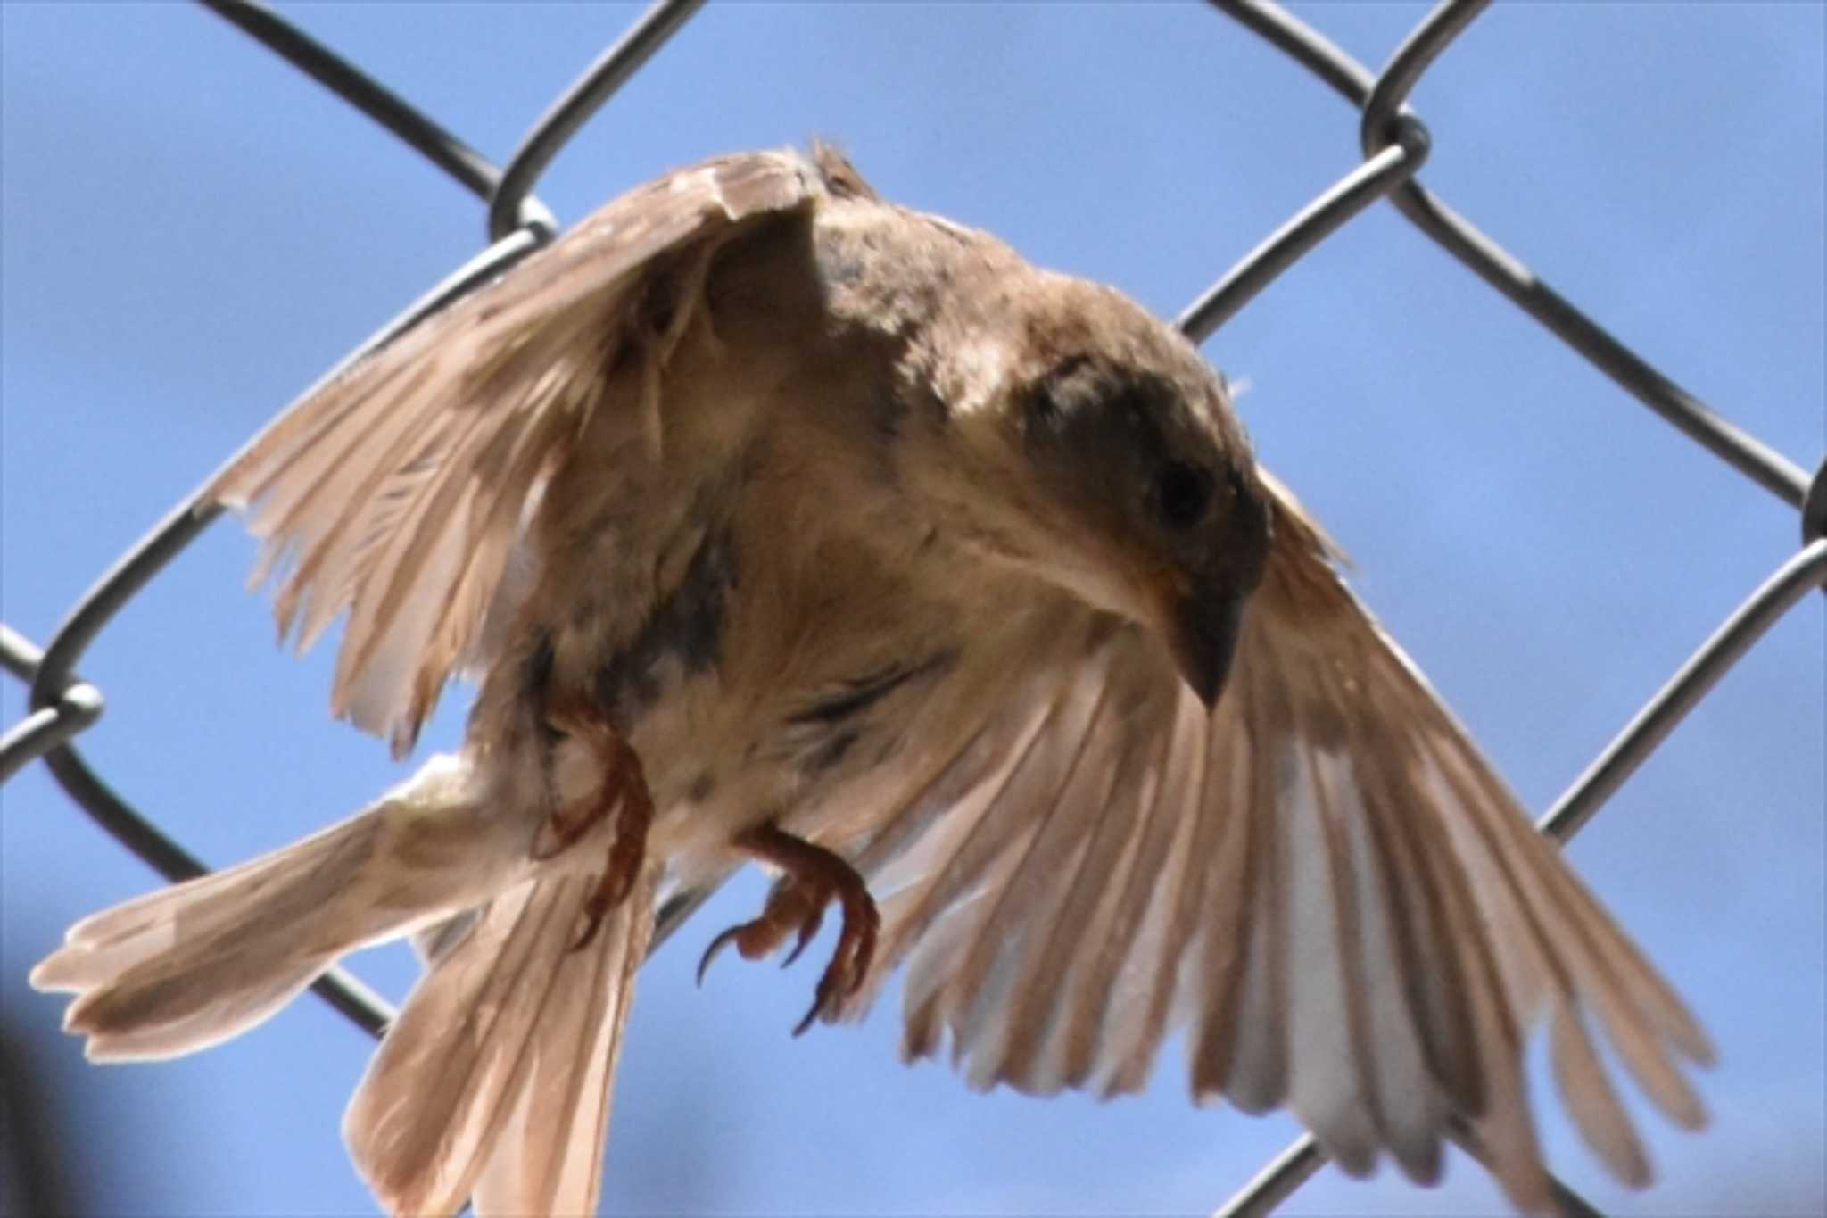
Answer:
[[[1209,707],[1268,555],[1268,495],[1224,382],[1118,292],[1009,276],[930,349],[957,533],[1160,634]]]

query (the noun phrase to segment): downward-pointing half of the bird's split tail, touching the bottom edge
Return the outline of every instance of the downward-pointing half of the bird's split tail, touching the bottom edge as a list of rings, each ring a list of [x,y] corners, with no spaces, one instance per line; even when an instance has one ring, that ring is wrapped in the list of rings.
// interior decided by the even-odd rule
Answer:
[[[588,877],[544,877],[437,935],[428,975],[343,1116],[393,1213],[594,1213],[610,1085],[652,933],[654,877],[570,957]]]

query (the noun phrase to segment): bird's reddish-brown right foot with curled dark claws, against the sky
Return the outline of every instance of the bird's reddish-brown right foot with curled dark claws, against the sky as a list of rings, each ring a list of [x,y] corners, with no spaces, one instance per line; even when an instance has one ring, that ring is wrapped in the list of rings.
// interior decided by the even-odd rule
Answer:
[[[780,867],[786,875],[767,895],[762,917],[731,926],[711,940],[698,962],[700,982],[716,953],[731,942],[736,944],[742,959],[758,961],[797,933],[798,939],[786,959],[786,964],[791,964],[818,933],[826,904],[835,898],[844,909],[844,931],[837,939],[831,962],[818,977],[811,1010],[793,1028],[793,1035],[798,1035],[811,1026],[813,1019],[835,1013],[844,999],[862,988],[875,957],[875,933],[881,929],[882,915],[877,913],[875,898],[870,897],[870,889],[855,867],[822,845],[813,845],[775,825],[744,829],[731,838],[731,845]]]

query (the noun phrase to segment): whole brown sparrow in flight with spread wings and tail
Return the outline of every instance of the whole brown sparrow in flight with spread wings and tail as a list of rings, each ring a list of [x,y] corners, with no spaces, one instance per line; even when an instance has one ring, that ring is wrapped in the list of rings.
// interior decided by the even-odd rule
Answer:
[[[1714,1048],[1255,458],[1109,287],[882,199],[828,144],[608,203],[354,362],[206,488],[331,709],[356,813],[93,915],[31,973],[95,1061],[238,1035],[354,948],[426,971],[343,1118],[389,1213],[594,1213],[658,902],[756,864],[800,1024],[904,971],[974,1088],[1292,1110],[1346,1172],[1449,1141],[1551,1207],[1522,1055],[1621,1180],[1600,1057],[1674,1123]],[[702,977],[702,973],[700,973]]]

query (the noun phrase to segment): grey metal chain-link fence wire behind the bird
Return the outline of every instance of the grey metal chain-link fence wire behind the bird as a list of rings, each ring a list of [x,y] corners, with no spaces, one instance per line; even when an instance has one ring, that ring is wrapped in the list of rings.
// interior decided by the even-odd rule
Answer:
[[[660,0],[647,9],[623,38],[559,95],[528,131],[508,168],[499,170],[420,110],[263,5],[245,0],[199,2],[488,201],[488,248],[364,341],[343,363],[331,369],[325,380],[550,241],[557,223],[530,194],[533,181],[588,117],[703,4],[703,0]],[[1312,71],[1359,111],[1363,161],[1350,166],[1332,188],[1295,212],[1188,305],[1178,318],[1182,331],[1202,341],[1332,232],[1376,201],[1389,199],[1434,243],[1579,351],[1626,393],[1748,480],[1800,509],[1801,550],[1752,590],[1695,648],[1538,822],[1542,833],[1560,840],[1569,838],[1783,614],[1811,588],[1827,590],[1827,460],[1811,478],[1800,466],[1719,416],[1542,283],[1520,259],[1416,179],[1427,161],[1431,137],[1421,121],[1407,110],[1405,99],[1434,58],[1478,18],[1489,0],[1447,0],[1436,5],[1403,40],[1381,73],[1370,73],[1325,35],[1275,4],[1209,2]],[[0,734],[0,782],[29,761],[44,758],[51,776],[84,813],[170,880],[203,875],[206,867],[108,787],[71,743],[77,734],[100,719],[104,707],[100,690],[77,676],[77,661],[113,615],[219,515],[217,508],[203,502],[201,491],[203,488],[197,488],[179,500],[95,581],[42,652],[0,623],[0,667],[29,687],[26,716]],[[654,948],[714,887],[716,882],[711,882],[674,893],[661,908]],[[342,970],[331,970],[312,988],[375,1035],[384,1032],[393,1017],[385,1001]],[[1463,1141],[1476,1154],[1476,1147],[1469,1139]],[[1312,1136],[1304,1136],[1264,1165],[1217,1213],[1266,1214],[1323,1165],[1325,1152]],[[1553,1187],[1564,1213],[1595,1213],[1558,1181],[1553,1181]]]

